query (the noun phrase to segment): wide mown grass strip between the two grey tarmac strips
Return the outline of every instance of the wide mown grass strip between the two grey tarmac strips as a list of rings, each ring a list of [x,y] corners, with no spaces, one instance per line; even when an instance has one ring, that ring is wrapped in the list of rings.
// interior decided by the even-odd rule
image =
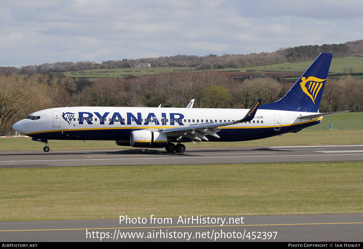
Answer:
[[[363,212],[363,162],[0,169],[0,220]]]

